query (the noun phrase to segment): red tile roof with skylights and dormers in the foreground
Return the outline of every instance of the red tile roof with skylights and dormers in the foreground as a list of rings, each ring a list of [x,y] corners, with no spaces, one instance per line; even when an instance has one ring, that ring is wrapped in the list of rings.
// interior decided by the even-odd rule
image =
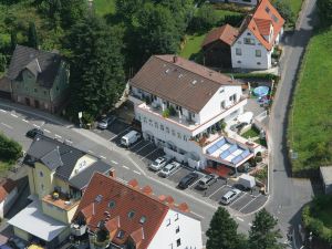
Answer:
[[[98,195],[100,201],[95,201]],[[91,208],[93,205],[94,208]],[[74,217],[80,214],[84,217],[89,215],[90,218],[85,219],[92,231],[96,230],[101,220],[105,220],[105,227],[114,243],[124,245],[131,238],[136,242],[137,249],[145,249],[159,229],[168,209],[166,204],[139,189],[95,173]],[[129,211],[135,212],[132,218],[128,217]],[[143,224],[142,217],[145,217]],[[116,238],[120,230],[125,232],[123,238]]]

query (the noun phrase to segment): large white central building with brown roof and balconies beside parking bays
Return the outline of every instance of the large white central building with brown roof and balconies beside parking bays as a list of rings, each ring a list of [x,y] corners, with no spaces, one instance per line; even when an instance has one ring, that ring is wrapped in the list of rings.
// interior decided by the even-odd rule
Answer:
[[[238,81],[179,56],[153,55],[129,89],[144,138],[177,160],[194,168],[237,167],[253,156],[220,132],[247,104]]]

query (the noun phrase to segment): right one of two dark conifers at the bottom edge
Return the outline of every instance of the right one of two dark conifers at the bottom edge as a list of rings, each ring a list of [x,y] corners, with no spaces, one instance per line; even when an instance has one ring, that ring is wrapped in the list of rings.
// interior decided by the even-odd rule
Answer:
[[[280,230],[276,229],[278,220],[274,219],[266,209],[256,214],[249,231],[249,248],[250,249],[282,249],[284,245],[278,239],[282,236]]]

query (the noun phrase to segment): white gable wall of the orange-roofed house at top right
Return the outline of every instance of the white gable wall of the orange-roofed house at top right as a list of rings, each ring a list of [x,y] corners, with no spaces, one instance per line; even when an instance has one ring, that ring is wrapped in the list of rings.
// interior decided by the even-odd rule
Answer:
[[[231,45],[231,65],[234,69],[270,69],[272,52],[273,49],[267,50],[247,29]]]

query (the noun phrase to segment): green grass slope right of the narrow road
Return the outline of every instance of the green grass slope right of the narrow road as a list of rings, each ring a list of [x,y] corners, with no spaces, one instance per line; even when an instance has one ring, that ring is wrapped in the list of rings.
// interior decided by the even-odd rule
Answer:
[[[332,30],[310,41],[297,83],[288,143],[298,153],[294,173],[332,163]]]

